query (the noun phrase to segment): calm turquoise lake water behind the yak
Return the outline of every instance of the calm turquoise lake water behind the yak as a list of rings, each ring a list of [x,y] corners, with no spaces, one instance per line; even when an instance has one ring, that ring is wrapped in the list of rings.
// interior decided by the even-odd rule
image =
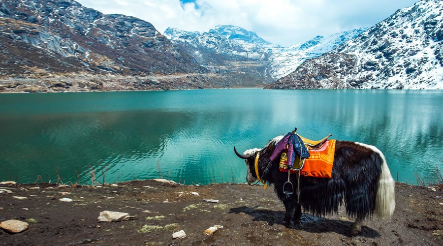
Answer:
[[[0,181],[245,182],[233,146],[261,148],[294,127],[378,147],[395,181],[443,170],[442,91],[23,93],[0,104]]]

